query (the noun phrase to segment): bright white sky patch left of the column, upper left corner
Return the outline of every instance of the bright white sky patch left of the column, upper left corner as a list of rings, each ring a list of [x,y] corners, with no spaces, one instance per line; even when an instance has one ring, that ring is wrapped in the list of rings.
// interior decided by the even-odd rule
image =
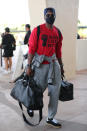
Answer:
[[[28,0],[0,0],[0,24],[29,22]]]

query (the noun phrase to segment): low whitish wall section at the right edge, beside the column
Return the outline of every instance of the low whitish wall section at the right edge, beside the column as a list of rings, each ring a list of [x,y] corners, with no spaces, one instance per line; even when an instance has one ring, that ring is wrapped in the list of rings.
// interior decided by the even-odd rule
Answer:
[[[76,43],[76,69],[87,69],[87,40],[77,40]]]

